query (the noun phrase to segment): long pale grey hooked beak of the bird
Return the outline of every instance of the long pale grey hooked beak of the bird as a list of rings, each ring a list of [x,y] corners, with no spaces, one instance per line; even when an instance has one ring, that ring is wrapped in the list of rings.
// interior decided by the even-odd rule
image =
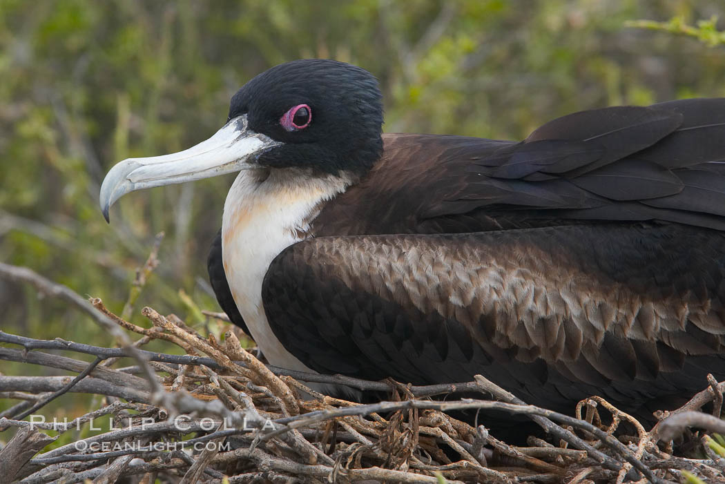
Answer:
[[[111,168],[101,184],[99,202],[103,216],[108,222],[111,206],[131,191],[259,167],[260,154],[281,144],[249,130],[247,114],[243,114],[229,120],[211,138],[184,151],[124,159]]]

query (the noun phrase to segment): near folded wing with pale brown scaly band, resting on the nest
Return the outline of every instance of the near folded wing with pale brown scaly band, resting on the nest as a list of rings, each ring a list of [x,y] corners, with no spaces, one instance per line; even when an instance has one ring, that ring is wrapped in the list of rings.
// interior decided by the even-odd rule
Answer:
[[[725,377],[725,233],[569,225],[323,237],[270,264],[262,298],[318,372],[418,384],[481,373],[571,411],[625,408]]]

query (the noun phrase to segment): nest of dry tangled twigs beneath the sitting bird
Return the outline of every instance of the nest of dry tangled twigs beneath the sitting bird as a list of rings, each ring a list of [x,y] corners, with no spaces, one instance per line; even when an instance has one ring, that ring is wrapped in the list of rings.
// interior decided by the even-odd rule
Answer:
[[[154,257],[138,272],[136,288],[153,269]],[[13,345],[0,347],[0,359],[78,373],[73,378],[0,375],[0,398],[20,400],[0,414],[0,432],[17,427],[14,438],[0,450],[0,475],[10,476],[11,481],[725,480],[725,448],[720,445],[725,441],[687,430],[691,426],[724,430],[719,416],[725,383],[713,378],[682,408],[660,412],[657,425],[647,429],[600,397],[581,401],[572,417],[524,404],[481,376],[468,383],[413,386],[281,370],[244,349],[231,330],[220,342],[212,334],[200,335],[173,314],[162,316],[149,307],[142,314],[152,327],[140,327],[128,322],[127,316],[109,312],[100,299],[83,299],[25,268],[0,264],[0,275],[78,306],[120,343],[119,348],[102,348],[0,332],[0,343]],[[223,315],[210,313],[210,317]],[[169,341],[184,354],[141,349],[154,339]],[[88,364],[48,350],[91,354],[95,359]],[[117,359],[125,356],[136,364],[118,367]],[[315,383],[386,392],[389,399],[376,404],[336,399],[310,388]],[[25,420],[68,391],[102,396],[101,406],[71,422]],[[456,399],[461,392],[481,398]],[[705,405],[712,406],[711,414],[701,411]],[[484,425],[473,426],[447,413],[461,409],[524,415],[542,427],[546,439],[530,436],[526,446],[511,445],[486,429],[484,417],[479,419]],[[38,454],[57,438],[43,430],[72,434],[104,416],[113,422],[109,429]],[[697,445],[700,458],[675,455],[673,439],[683,432]]]

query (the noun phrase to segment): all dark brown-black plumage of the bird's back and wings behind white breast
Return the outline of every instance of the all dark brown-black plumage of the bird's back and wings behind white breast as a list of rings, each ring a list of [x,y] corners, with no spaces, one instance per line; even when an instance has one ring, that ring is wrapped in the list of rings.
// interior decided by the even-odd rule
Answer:
[[[270,326],[320,372],[481,373],[563,411],[692,393],[725,377],[724,122],[725,100],[693,99],[521,143],[385,135],[315,238],[270,265]]]

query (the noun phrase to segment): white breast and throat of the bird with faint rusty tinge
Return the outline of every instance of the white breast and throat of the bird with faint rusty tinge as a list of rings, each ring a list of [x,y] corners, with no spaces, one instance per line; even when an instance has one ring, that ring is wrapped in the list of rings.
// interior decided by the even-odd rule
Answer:
[[[268,174],[268,176],[267,176]],[[224,204],[224,272],[236,306],[268,361],[311,371],[272,333],[262,305],[262,281],[270,262],[286,247],[310,236],[321,204],[345,190],[337,177],[315,177],[294,169],[239,173]]]

